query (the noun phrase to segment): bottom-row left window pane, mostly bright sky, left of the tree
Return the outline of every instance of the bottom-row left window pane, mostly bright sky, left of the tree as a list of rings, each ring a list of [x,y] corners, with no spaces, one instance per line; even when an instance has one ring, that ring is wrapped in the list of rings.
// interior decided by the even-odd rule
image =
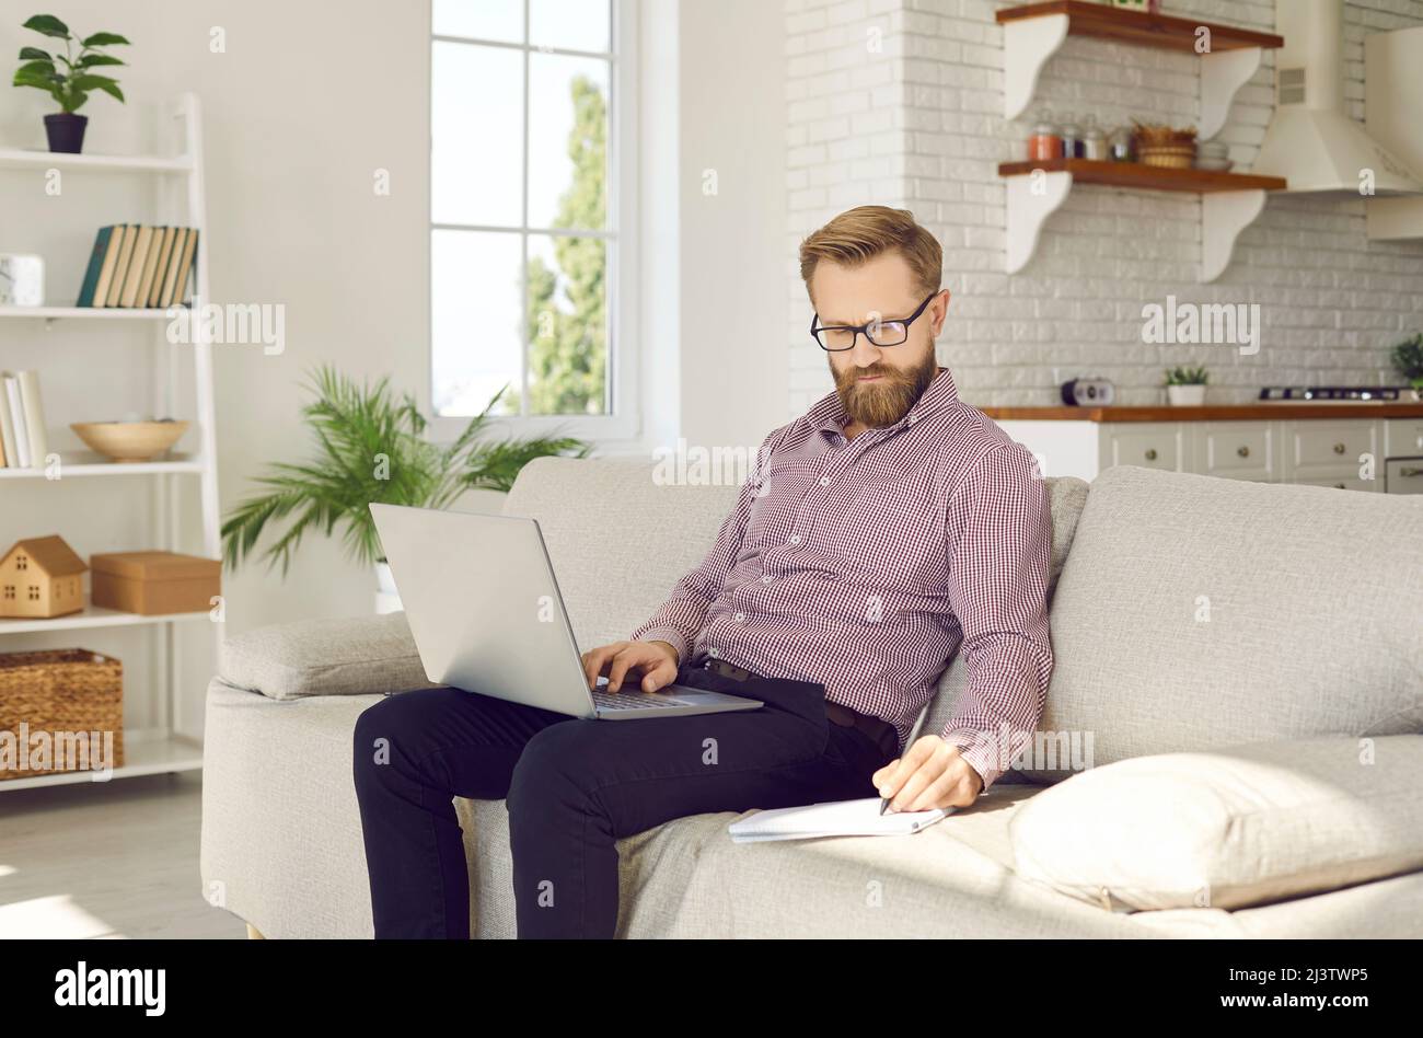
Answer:
[[[437,414],[518,414],[519,236],[482,231],[430,234],[430,347]]]

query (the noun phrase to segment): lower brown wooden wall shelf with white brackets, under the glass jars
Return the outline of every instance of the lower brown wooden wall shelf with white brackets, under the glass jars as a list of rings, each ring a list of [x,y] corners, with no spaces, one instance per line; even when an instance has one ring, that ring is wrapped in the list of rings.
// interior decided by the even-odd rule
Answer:
[[[1215,281],[1229,266],[1235,239],[1265,208],[1266,191],[1284,191],[1281,177],[1167,169],[1141,162],[1049,158],[1000,162],[1007,178],[1007,272],[1022,271],[1037,251],[1043,224],[1067,201],[1073,184],[1133,191],[1188,191],[1201,195],[1201,281]]]

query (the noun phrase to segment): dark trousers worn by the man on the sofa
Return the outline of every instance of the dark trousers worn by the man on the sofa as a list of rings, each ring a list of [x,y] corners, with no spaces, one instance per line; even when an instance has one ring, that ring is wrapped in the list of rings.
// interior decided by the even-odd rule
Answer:
[[[620,837],[686,814],[878,796],[869,776],[894,757],[827,719],[822,685],[687,665],[677,681],[766,706],[589,720],[438,688],[367,708],[353,772],[376,937],[468,938],[454,796],[507,802],[521,938],[615,935]]]

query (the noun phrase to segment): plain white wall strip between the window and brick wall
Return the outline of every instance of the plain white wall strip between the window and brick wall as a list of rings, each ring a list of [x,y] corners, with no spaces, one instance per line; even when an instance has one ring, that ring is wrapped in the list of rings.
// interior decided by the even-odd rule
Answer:
[[[795,265],[784,238],[785,20],[766,0],[682,0],[680,21],[682,434],[754,453],[793,417],[780,335]]]

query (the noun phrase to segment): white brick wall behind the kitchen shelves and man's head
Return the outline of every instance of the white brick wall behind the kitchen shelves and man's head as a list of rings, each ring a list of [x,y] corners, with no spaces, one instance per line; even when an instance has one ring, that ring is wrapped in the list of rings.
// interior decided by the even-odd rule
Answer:
[[[1195,195],[1077,187],[1032,262],[1003,273],[998,162],[1020,158],[1043,108],[1111,127],[1131,117],[1195,124],[1191,54],[1069,37],[1027,112],[1002,117],[1000,0],[785,0],[790,162],[791,414],[832,387],[807,335],[794,261],[801,238],[842,209],[912,209],[943,245],[953,293],[939,359],[965,399],[1050,404],[1079,374],[1117,383],[1123,403],[1158,403],[1161,369],[1205,365],[1211,400],[1262,384],[1396,383],[1387,350],[1423,326],[1423,243],[1369,242],[1358,198],[1271,195],[1225,275],[1197,281]],[[1167,0],[1171,14],[1274,31],[1271,0]],[[1423,0],[1348,0],[1345,97],[1363,118],[1363,37],[1423,23]],[[1274,56],[1237,95],[1220,140],[1248,169],[1274,107]],[[1261,349],[1141,342],[1141,308],[1259,303]]]

